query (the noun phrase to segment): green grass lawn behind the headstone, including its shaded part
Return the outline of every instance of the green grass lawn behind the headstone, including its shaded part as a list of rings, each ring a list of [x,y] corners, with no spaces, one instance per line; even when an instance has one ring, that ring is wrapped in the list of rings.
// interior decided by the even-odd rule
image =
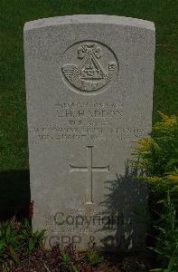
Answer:
[[[2,203],[14,206],[17,201],[23,202],[24,199],[29,198],[23,67],[23,24],[25,22],[43,17],[74,14],[124,15],[155,22],[153,121],[158,119],[157,111],[167,114],[177,113],[177,0],[1,0],[0,10],[2,60],[0,207]]]

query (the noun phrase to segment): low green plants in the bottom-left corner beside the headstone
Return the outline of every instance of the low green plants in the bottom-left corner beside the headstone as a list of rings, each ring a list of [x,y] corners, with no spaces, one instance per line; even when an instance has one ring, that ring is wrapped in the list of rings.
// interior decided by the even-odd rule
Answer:
[[[17,222],[14,218],[0,223],[0,262],[10,258],[18,263],[21,257],[31,254],[34,248],[42,247],[44,232],[33,232],[27,219]]]

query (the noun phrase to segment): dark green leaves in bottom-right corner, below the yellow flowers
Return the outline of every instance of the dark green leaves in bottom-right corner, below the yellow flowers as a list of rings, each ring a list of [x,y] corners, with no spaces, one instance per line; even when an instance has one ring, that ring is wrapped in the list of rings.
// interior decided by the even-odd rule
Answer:
[[[159,212],[159,222],[154,227],[158,235],[155,238],[155,248],[150,249],[155,251],[158,260],[162,262],[162,267],[167,268],[160,268],[160,270],[157,268],[152,271],[176,272],[178,267],[178,218],[169,193],[167,199],[164,200],[164,213]]]

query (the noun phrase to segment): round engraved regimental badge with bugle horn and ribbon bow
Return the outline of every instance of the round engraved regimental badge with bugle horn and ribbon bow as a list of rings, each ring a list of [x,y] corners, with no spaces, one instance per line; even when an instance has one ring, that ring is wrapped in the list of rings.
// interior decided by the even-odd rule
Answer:
[[[61,67],[65,82],[79,92],[97,92],[110,83],[118,72],[116,55],[104,44],[81,42],[65,52]]]

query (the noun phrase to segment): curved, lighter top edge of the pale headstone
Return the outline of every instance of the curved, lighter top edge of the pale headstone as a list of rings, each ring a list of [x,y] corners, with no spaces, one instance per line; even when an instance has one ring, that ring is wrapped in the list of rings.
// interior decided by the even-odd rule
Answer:
[[[58,24],[118,24],[145,28],[155,31],[155,24],[150,21],[114,15],[67,15],[43,18],[24,24],[24,31]]]

